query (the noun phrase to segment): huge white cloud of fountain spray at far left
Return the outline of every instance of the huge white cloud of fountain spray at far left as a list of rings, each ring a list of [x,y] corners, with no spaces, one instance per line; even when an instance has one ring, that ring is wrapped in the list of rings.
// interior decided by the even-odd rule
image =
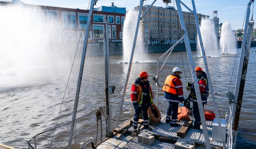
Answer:
[[[72,51],[55,44],[61,36],[40,8],[2,6],[0,14],[1,89],[51,82],[52,75],[71,68],[64,55]]]

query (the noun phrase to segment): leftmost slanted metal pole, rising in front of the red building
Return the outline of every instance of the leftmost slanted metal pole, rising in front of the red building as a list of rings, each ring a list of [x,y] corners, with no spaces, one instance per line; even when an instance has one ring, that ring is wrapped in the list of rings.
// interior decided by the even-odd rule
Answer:
[[[77,112],[77,107],[78,107],[79,94],[80,94],[82,76],[83,76],[83,71],[84,71],[84,60],[85,60],[85,54],[86,54],[86,49],[87,49],[90,24],[91,24],[91,20],[92,20],[92,16],[93,16],[93,7],[94,7],[93,5],[96,5],[97,1],[98,0],[91,1],[89,16],[88,16],[88,20],[87,20],[86,33],[85,33],[85,38],[84,38],[84,47],[83,47],[83,53],[82,53],[82,57],[81,57],[81,64],[80,64],[80,70],[79,70],[79,76],[78,76],[77,88],[76,88],[76,98],[75,98],[73,116],[72,116],[72,122],[71,122],[71,128],[70,128],[70,136],[69,136],[69,141],[68,141],[68,149],[71,149],[71,145],[72,145],[72,138],[73,138],[74,126],[75,126],[75,120],[76,120],[76,112]]]

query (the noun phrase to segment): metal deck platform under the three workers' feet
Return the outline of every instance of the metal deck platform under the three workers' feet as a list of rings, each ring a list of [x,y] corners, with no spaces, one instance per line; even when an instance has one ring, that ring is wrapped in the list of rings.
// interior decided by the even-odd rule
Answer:
[[[123,135],[122,133],[116,133],[113,138],[105,140],[103,143],[98,145],[97,149],[174,149],[174,144],[176,143],[177,139],[180,138],[177,136],[177,131],[180,129],[184,122],[178,122],[180,123],[180,126],[178,127],[171,127],[170,123],[165,122],[166,114],[161,113],[161,115],[161,123],[155,124],[154,128],[150,131],[155,136],[155,143],[152,146],[138,143],[138,138],[136,134],[132,131],[132,126],[130,126],[126,135]],[[125,123],[127,125],[128,123],[130,123],[130,120],[133,120],[133,118],[125,121],[120,126],[124,126]],[[125,131],[126,129],[127,128],[123,130]],[[141,126],[140,130],[142,129],[143,126]],[[212,121],[207,120],[207,129],[211,147],[221,148],[222,142],[212,140]],[[138,134],[140,134],[140,131]],[[161,142],[159,138],[169,139],[171,143]],[[205,148],[205,140],[202,126],[200,130],[190,128],[189,131],[186,133],[185,138],[194,140],[196,143],[196,149]]]

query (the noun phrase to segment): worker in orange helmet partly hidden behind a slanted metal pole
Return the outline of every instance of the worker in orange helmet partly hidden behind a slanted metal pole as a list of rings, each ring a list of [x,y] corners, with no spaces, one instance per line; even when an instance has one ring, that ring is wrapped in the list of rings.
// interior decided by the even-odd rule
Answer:
[[[197,75],[199,90],[201,93],[201,99],[204,107],[204,104],[207,103],[207,97],[209,96],[209,85],[208,85],[207,75],[201,67],[196,67],[195,72]],[[192,84],[188,82],[186,89],[191,90],[188,99],[193,102],[193,115],[195,117],[193,128],[199,130],[201,125],[201,117],[199,114],[198,102],[195,95],[194,83]]]

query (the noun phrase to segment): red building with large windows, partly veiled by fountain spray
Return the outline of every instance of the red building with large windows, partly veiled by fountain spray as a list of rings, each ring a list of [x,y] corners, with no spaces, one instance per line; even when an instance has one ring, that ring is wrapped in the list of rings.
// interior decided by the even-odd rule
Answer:
[[[58,33],[56,41],[78,42],[84,40],[89,10],[69,9],[51,6],[28,5],[0,1],[0,6],[24,6],[38,9],[44,15],[45,22],[52,23]],[[90,25],[89,43],[103,43],[105,34],[105,18],[108,20],[108,37],[110,44],[122,43],[122,30],[125,20],[125,8],[101,6],[94,9]]]

